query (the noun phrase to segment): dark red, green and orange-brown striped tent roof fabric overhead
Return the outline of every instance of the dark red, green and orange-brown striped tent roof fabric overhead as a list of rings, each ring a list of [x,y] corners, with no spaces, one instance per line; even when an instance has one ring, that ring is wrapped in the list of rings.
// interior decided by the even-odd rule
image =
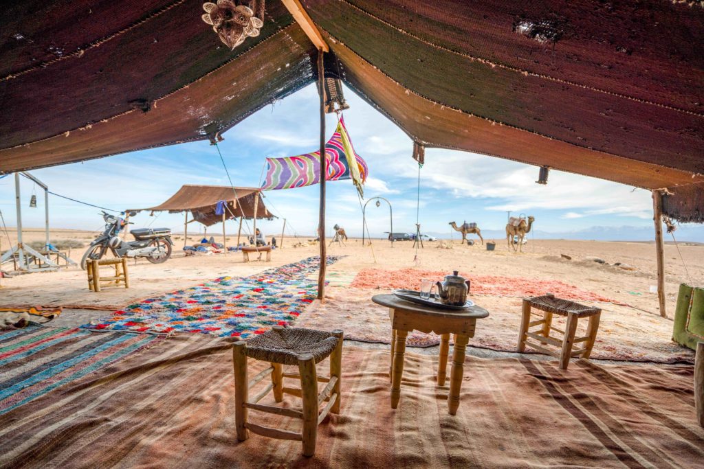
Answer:
[[[0,11],[0,172],[212,138],[317,79],[317,51],[280,1],[234,51],[202,3]],[[330,72],[413,140],[668,188],[665,213],[704,221],[700,2],[301,4],[337,58]]]

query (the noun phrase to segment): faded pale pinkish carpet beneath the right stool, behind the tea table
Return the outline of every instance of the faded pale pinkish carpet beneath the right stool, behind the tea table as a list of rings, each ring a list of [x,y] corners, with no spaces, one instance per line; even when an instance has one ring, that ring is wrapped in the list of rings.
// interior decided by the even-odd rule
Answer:
[[[372,303],[379,290],[332,287],[326,290],[324,304],[313,302],[296,327],[332,330],[341,328],[345,338],[360,342],[388,344],[391,340],[389,309]],[[470,346],[503,352],[515,352],[520,326],[521,300],[513,297],[474,297],[472,300],[489,311],[489,317],[477,321],[477,331]],[[672,321],[654,314],[616,304],[599,304],[603,312],[595,359],[648,361],[655,363],[693,363],[694,353],[672,342]],[[556,327],[565,328],[565,319],[555,316]],[[578,335],[586,335],[586,322],[579,321]],[[408,334],[409,347],[438,345],[440,338],[417,330]]]

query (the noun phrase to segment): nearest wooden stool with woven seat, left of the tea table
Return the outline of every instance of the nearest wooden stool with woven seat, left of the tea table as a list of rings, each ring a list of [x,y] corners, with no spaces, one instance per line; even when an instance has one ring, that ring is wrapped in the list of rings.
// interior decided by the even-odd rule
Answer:
[[[261,371],[251,380],[247,378],[247,357],[260,361],[268,361],[271,366]],[[330,356],[330,377],[318,376],[315,364]],[[318,435],[318,425],[329,412],[340,411],[340,383],[342,368],[342,331],[332,333],[321,330],[284,328],[274,326],[262,335],[249,342],[235,342],[232,349],[234,361],[235,411],[234,420],[237,426],[237,439],[247,439],[248,431],[258,435],[279,439],[296,439],[303,442],[303,455],[313,456],[315,439]],[[298,373],[283,373],[282,365],[298,366]],[[261,380],[271,375],[271,383],[251,399],[249,390]],[[301,387],[284,387],[283,378],[300,380]],[[318,381],[327,383],[318,393]],[[281,402],[284,393],[303,399],[302,409],[287,409],[277,406],[257,404],[271,390],[274,390],[274,400]],[[327,401],[322,411],[319,406]],[[289,430],[264,427],[249,423],[249,409],[275,413],[280,416],[300,418],[303,429],[300,433]]]

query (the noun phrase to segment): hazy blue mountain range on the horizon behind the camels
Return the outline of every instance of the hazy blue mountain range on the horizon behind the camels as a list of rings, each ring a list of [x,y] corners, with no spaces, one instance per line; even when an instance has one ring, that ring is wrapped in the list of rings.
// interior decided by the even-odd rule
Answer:
[[[426,231],[425,234],[435,236],[439,239],[450,239],[450,233],[439,233]],[[375,237],[381,237],[379,235]],[[459,231],[452,233],[453,239],[460,239]],[[470,239],[478,239],[475,235],[469,235]],[[503,240],[505,232],[503,230],[482,230],[484,240]],[[674,232],[677,241],[687,241],[704,243],[704,225],[687,224],[677,227]],[[528,233],[528,239],[579,239],[595,241],[653,241],[655,240],[655,229],[652,226],[590,226],[589,228],[575,231],[541,231],[535,230]],[[665,242],[672,242],[672,236],[665,233]]]

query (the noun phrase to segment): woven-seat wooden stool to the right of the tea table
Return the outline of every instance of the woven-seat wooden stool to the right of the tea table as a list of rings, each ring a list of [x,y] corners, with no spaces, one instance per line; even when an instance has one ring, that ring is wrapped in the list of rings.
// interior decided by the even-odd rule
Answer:
[[[543,311],[543,319],[531,321],[531,309],[541,309]],[[567,316],[567,325],[565,330],[560,330],[552,326],[553,314]],[[574,333],[577,332],[577,321],[580,318],[589,318],[589,323],[586,328],[586,335],[575,339]],[[567,369],[567,364],[570,363],[572,356],[588,359],[591,354],[591,349],[596,340],[596,331],[599,328],[599,319],[601,318],[601,309],[584,306],[570,300],[561,300],[555,298],[554,295],[543,295],[540,297],[524,298],[523,299],[523,314],[521,318],[521,329],[518,335],[518,352],[523,352],[526,348],[532,347],[538,352],[543,352],[548,355],[555,356],[560,359],[560,368]],[[533,332],[529,330],[534,326],[540,326],[540,329],[535,329]],[[554,338],[550,336],[550,331],[554,330],[562,334],[562,338]],[[535,342],[529,342],[528,338],[538,340],[540,345]],[[584,347],[572,351],[572,345],[577,342],[584,342]],[[555,352],[546,346],[552,345],[559,347],[560,351]]]

